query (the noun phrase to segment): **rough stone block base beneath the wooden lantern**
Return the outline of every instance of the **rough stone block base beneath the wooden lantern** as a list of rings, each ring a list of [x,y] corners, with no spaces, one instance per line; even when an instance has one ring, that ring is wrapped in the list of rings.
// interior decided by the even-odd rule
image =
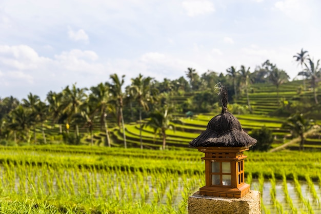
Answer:
[[[203,196],[199,191],[188,198],[189,214],[260,214],[260,192],[251,190],[243,198]]]

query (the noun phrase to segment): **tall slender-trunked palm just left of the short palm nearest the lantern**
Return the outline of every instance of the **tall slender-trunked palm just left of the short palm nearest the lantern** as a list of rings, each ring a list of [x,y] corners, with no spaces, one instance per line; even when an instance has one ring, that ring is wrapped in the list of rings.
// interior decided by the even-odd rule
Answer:
[[[139,142],[141,143],[141,149],[143,149],[143,140],[142,140],[142,109],[145,111],[149,110],[148,103],[153,100],[152,91],[150,88],[150,82],[152,77],[143,77],[139,73],[138,77],[131,79],[131,94],[134,96],[136,102],[138,103],[139,111]]]

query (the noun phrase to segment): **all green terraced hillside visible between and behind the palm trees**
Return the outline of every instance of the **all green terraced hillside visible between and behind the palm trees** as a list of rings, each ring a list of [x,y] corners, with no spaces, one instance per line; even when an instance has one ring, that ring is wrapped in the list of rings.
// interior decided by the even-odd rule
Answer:
[[[288,108],[295,105],[306,105],[313,103],[313,92],[307,87],[306,90],[303,89],[303,81],[293,81],[284,83],[278,88],[277,101],[277,89],[276,86],[270,83],[265,84],[252,84],[249,86],[249,99],[250,104],[253,109],[253,113],[250,114],[238,114],[239,111],[234,109],[234,105],[243,106],[244,109],[247,107],[247,98],[245,93],[239,94],[239,99],[237,101],[231,102],[228,108],[240,121],[242,128],[246,132],[250,132],[253,129],[260,129],[266,126],[272,131],[274,136],[273,147],[283,145],[284,143],[290,144],[287,146],[289,149],[298,149],[298,143],[291,143],[291,131],[288,128],[283,128],[282,124],[286,121],[288,116]],[[173,95],[170,100],[176,105],[184,105],[186,101],[191,98],[195,93],[185,93],[182,96]],[[321,92],[318,92],[321,97]],[[214,94],[213,96],[217,96]],[[302,102],[304,101],[304,103]],[[206,130],[206,126],[213,116],[220,112],[219,104],[215,104],[212,112],[210,113],[198,113],[194,114],[192,117],[187,118],[182,113],[175,113],[174,118],[171,122],[173,129],[169,129],[166,132],[166,145],[168,148],[186,148],[189,147],[189,142],[196,138],[200,133]],[[128,107],[126,107],[128,108]],[[282,109],[282,110],[280,110]],[[129,110],[129,109],[125,109]],[[236,111],[236,112],[233,112]],[[306,114],[306,112],[303,112]],[[316,118],[313,118],[316,115]],[[314,114],[310,114],[310,119],[318,119],[321,113],[315,111]],[[308,115],[309,116],[309,115]],[[107,146],[106,131],[104,126],[100,123],[99,118],[94,119],[94,126],[92,129],[93,144],[99,146]],[[145,119],[145,122],[148,120]],[[118,128],[116,125],[115,118],[112,115],[108,115],[108,127],[111,138],[111,145],[113,147],[123,147],[124,146],[124,134],[123,129]],[[140,135],[139,135],[139,124],[138,122],[131,122],[130,118],[125,118],[125,135],[128,147],[139,147],[140,146]],[[145,123],[144,122],[144,123]],[[316,124],[321,124],[320,120],[315,121]],[[66,134],[66,127],[62,124],[63,132],[59,132],[59,125],[52,123],[52,121],[47,121],[44,124],[44,132],[46,135],[46,140],[50,144],[61,144],[62,142],[67,144],[91,144],[91,134],[87,126],[79,126],[79,132],[81,133],[81,139],[75,140],[75,127],[70,127],[69,134]],[[37,144],[44,144],[43,134],[41,127],[37,126],[36,129],[31,129],[28,142],[19,144],[32,144],[34,143],[33,132],[36,132]],[[142,142],[145,148],[159,149],[162,147],[163,141],[162,137],[155,134],[153,129],[144,126],[142,129]],[[7,145],[6,141],[2,141],[3,145]],[[307,136],[305,143],[305,148],[309,150],[320,150],[321,140],[320,132],[312,133]]]

